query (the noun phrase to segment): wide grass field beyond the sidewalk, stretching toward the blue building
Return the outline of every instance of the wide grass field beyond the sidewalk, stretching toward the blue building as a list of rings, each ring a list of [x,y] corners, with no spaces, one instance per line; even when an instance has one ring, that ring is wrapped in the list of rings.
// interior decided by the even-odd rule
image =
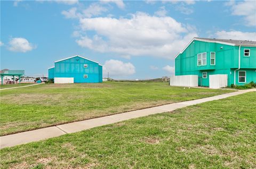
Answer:
[[[1,135],[231,92],[167,83],[42,84],[1,91]]]

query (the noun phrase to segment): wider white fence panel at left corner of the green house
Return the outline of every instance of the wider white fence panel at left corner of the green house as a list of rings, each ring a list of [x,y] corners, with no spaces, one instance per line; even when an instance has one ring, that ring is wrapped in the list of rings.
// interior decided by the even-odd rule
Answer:
[[[173,75],[170,77],[170,86],[198,86],[198,75]]]

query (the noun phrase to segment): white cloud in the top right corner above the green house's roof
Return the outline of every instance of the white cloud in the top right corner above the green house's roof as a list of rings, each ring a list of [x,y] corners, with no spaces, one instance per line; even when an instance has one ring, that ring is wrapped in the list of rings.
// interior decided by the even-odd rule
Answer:
[[[256,26],[256,2],[243,1],[235,2],[230,1],[226,5],[231,6],[231,14],[236,16],[244,16],[245,26]]]

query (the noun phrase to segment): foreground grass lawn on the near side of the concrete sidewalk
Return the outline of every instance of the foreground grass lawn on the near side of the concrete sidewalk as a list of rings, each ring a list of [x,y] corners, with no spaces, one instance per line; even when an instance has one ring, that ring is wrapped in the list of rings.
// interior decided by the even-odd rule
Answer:
[[[1,168],[256,168],[256,92],[4,148]]]

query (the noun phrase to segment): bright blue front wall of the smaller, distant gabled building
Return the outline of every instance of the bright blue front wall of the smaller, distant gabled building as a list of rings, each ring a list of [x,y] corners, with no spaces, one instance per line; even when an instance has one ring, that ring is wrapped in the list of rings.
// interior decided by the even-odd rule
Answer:
[[[87,64],[88,67],[84,68],[84,64]],[[87,78],[84,78],[84,74],[87,74]],[[79,56],[55,62],[54,76],[57,78],[74,78],[75,83],[101,82],[102,80],[99,80],[100,74],[102,74],[102,68],[99,67],[98,63]]]

